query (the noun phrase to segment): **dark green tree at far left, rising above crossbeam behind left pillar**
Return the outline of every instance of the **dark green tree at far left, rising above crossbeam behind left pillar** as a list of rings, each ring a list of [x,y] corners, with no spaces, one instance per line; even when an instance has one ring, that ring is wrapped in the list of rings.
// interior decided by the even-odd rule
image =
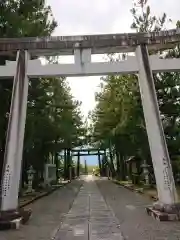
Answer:
[[[56,27],[51,8],[44,1],[6,0],[0,2],[0,36],[47,36]],[[50,18],[51,16],[51,18]],[[0,64],[15,60],[15,56],[0,56]],[[3,164],[5,135],[10,109],[12,79],[0,81],[0,172]]]

